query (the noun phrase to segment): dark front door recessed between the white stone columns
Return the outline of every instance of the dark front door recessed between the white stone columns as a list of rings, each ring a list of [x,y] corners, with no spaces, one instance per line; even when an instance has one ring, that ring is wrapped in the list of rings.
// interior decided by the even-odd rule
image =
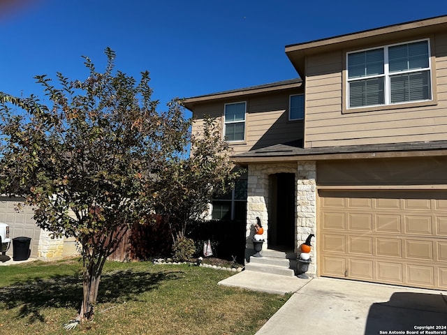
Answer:
[[[295,248],[295,174],[270,175],[269,248]]]

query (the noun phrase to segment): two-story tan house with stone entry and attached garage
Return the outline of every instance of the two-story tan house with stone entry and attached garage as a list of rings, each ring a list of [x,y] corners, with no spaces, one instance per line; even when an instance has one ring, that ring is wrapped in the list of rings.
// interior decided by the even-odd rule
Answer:
[[[247,168],[247,237],[258,216],[265,249],[316,235],[308,274],[446,290],[447,16],[286,55],[300,79],[184,103]]]

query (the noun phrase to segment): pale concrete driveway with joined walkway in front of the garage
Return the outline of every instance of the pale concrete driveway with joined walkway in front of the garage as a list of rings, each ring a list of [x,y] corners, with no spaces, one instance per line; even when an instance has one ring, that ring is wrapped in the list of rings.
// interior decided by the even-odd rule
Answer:
[[[239,281],[240,287],[251,290],[293,292],[256,335],[447,334],[446,291],[278,277],[243,271],[219,283],[237,286]]]

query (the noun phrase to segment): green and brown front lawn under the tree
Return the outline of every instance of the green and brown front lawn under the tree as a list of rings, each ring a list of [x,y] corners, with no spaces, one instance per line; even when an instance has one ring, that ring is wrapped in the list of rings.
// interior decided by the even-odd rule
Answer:
[[[75,329],[82,262],[1,267],[0,334],[255,334],[288,299],[217,285],[233,273],[189,265],[107,262],[94,319]]]

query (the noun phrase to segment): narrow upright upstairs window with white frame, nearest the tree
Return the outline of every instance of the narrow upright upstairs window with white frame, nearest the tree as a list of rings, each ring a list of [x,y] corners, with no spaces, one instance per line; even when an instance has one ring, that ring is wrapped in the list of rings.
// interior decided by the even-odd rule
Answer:
[[[225,139],[227,141],[245,140],[246,103],[225,104]]]

